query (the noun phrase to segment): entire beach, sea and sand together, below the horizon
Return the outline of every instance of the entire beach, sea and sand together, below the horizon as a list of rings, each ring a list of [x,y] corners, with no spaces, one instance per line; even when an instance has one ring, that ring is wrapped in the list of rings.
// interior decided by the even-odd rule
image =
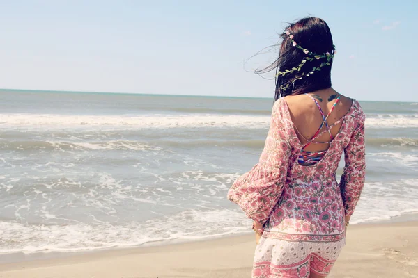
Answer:
[[[0,90],[0,102],[0,277],[250,276],[251,220],[226,193],[258,162],[272,99]],[[359,103],[366,183],[330,277],[417,277],[418,105]]]

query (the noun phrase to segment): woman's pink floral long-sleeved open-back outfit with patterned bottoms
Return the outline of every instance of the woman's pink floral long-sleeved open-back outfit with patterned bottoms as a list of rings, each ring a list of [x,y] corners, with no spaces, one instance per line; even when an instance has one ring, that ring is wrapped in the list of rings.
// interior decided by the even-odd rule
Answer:
[[[297,138],[286,101],[276,101],[259,162],[238,178],[228,199],[248,218],[265,222],[252,277],[327,275],[345,245],[346,215],[352,215],[364,186],[365,116],[353,100],[339,133],[314,165],[297,161]],[[345,153],[340,183],[336,170]]]

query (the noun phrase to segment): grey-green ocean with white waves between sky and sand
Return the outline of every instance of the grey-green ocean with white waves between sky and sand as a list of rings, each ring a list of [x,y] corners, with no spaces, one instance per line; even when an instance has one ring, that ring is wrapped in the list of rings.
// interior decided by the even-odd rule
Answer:
[[[352,222],[417,213],[418,103],[359,102]],[[272,99],[0,90],[0,104],[0,254],[251,232],[226,193],[258,161]]]

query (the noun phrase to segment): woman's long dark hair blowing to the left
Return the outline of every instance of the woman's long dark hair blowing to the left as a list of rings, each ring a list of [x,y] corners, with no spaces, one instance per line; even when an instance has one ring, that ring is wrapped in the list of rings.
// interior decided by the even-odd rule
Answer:
[[[309,51],[315,54],[334,54],[334,46],[332,42],[332,35],[330,27],[327,23],[318,17],[306,17],[300,19],[298,22],[290,24],[285,32],[293,35],[293,40],[297,42],[300,47],[309,49]],[[281,47],[279,51],[279,58],[275,60],[268,67],[261,70],[255,70],[256,74],[264,74],[275,70],[276,74],[279,71],[291,70],[294,67],[300,65],[301,61],[307,57],[302,49],[293,46],[293,41],[287,33],[280,35],[282,39]],[[309,76],[302,76],[302,73],[307,74],[314,67],[319,67],[324,60],[314,59],[308,61],[300,71],[294,71],[285,76],[277,76],[275,78],[276,90],[274,94],[274,100],[279,97],[285,97],[287,95],[300,95],[305,92],[314,92],[316,90],[326,89],[331,87],[331,67],[332,60],[329,61],[330,65],[321,67],[320,71],[315,72]],[[302,79],[297,79],[303,77]],[[295,81],[295,79],[297,79]],[[295,82],[293,82],[295,81]],[[289,84],[287,90],[283,90],[282,86]]]

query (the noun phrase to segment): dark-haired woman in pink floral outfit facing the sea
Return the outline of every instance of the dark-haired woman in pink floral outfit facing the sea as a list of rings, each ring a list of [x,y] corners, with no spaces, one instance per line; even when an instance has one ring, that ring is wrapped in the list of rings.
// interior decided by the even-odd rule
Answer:
[[[264,70],[277,71],[265,147],[228,198],[254,220],[252,277],[325,277],[364,185],[365,116],[355,99],[331,88],[336,52],[323,19],[304,18],[281,38],[279,58]]]

